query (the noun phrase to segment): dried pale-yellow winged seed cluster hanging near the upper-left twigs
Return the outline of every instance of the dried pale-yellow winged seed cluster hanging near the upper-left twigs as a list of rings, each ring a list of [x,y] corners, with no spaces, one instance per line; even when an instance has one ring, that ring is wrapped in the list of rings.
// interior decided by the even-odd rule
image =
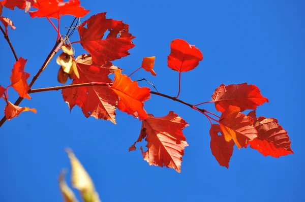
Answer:
[[[68,80],[68,76],[70,79],[73,79],[74,75],[79,79],[79,73],[77,70],[76,62],[72,55],[74,54],[74,51],[71,47],[63,46],[62,54],[60,54],[56,58],[57,64],[60,65],[58,75],[57,75],[57,81],[59,83],[65,84]]]

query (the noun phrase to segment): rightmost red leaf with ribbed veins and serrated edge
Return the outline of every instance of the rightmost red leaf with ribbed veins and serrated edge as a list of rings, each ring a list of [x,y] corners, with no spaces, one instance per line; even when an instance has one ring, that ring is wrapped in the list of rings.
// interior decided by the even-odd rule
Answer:
[[[277,119],[261,116],[255,120],[254,126],[258,134],[256,139],[249,142],[251,148],[264,156],[270,155],[277,158],[293,154],[288,132],[283,129]]]

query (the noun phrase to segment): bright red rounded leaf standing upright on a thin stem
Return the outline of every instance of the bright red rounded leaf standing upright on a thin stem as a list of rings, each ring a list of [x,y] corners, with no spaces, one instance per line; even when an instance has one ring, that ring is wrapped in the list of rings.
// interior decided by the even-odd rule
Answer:
[[[175,39],[170,43],[170,54],[167,57],[167,65],[170,69],[187,72],[195,69],[202,59],[200,50],[185,40]]]

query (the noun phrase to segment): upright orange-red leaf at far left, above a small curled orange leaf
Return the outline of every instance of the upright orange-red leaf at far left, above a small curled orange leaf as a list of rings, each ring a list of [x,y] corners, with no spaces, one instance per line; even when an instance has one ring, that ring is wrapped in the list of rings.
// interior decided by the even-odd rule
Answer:
[[[24,66],[26,61],[26,59],[20,57],[18,61],[15,62],[11,75],[11,86],[19,93],[20,97],[31,99],[31,97],[27,93],[29,87],[26,83],[29,74],[24,72]]]

